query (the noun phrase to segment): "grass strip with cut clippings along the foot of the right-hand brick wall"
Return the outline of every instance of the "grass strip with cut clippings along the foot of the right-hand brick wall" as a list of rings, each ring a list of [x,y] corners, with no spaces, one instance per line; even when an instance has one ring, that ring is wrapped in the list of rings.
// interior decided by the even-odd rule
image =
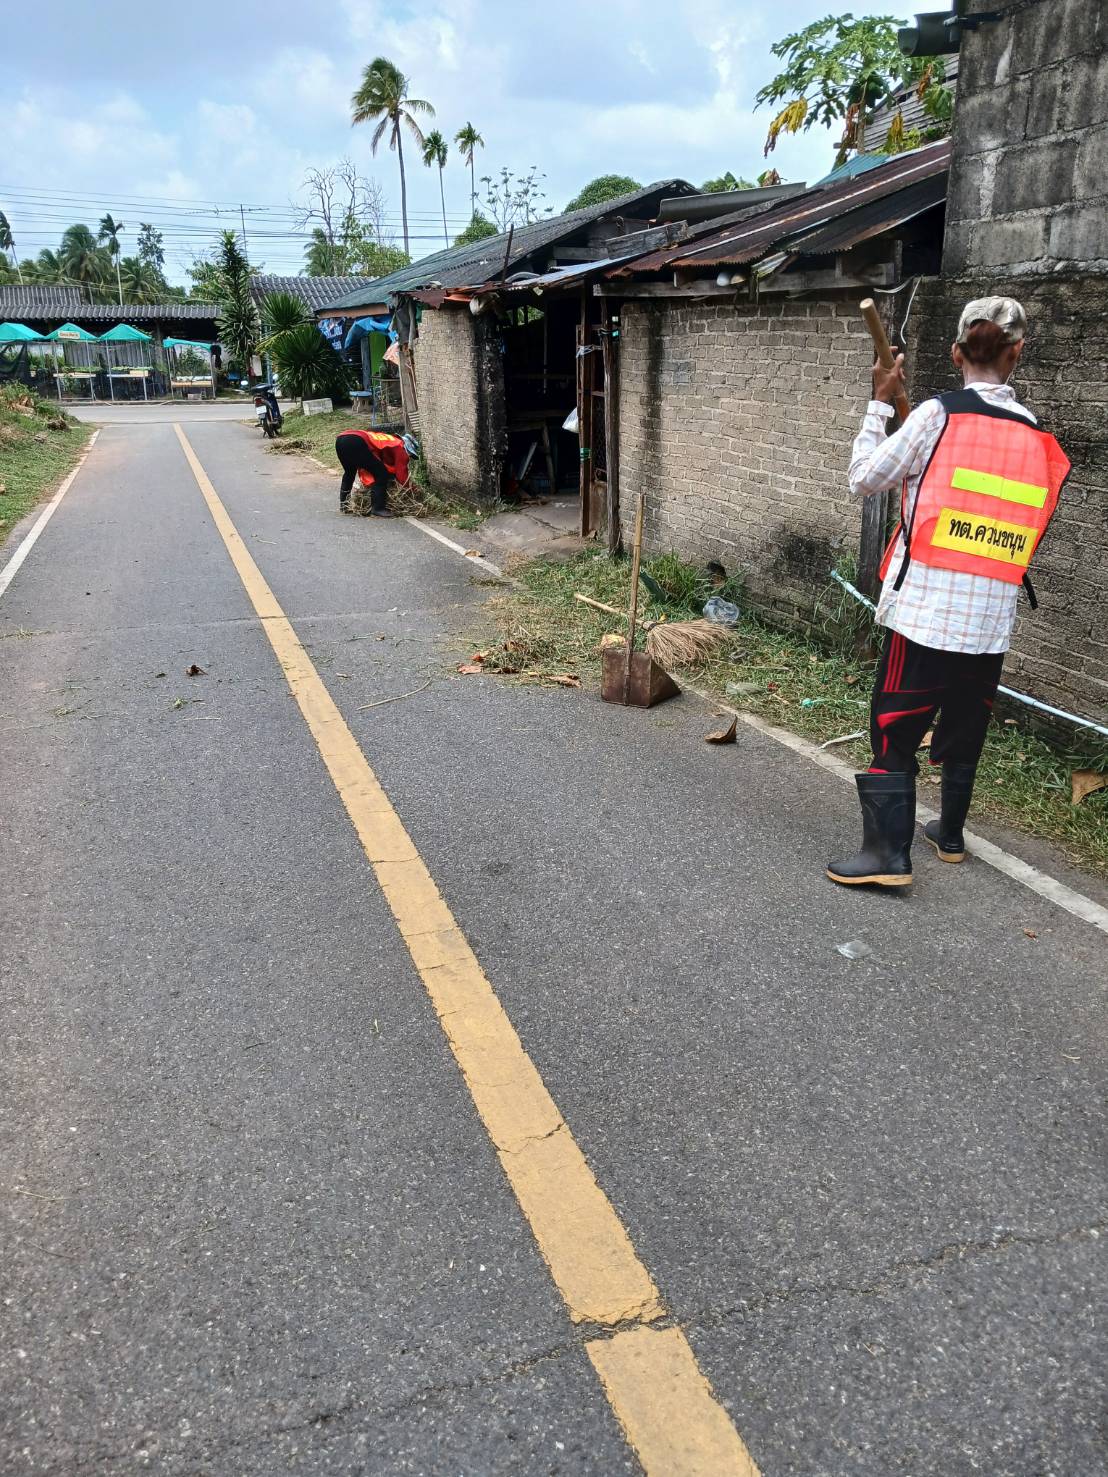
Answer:
[[[657,600],[641,591],[640,613],[646,619],[694,619],[708,594],[715,592],[709,579],[672,554],[647,560],[644,569],[665,592],[665,598]],[[561,671],[576,674],[585,685],[598,685],[600,638],[609,631],[622,632],[625,622],[582,606],[573,594],[581,591],[625,609],[629,595],[626,560],[595,552],[558,563],[539,558],[514,569],[513,575],[519,586],[493,597],[486,607],[498,645],[485,657],[483,669],[496,672],[498,666],[507,666],[521,676]],[[842,631],[836,619],[836,589],[829,591],[824,607],[829,640],[832,632]],[[734,598],[737,591],[724,589],[722,594]],[[480,640],[488,644],[490,632],[483,632]],[[867,727],[875,666],[872,654],[855,654],[852,635],[839,650],[814,647],[746,616],[727,656],[674,675],[718,694],[733,707],[826,743]],[[836,744],[833,752],[860,767],[869,762],[864,740]],[[1000,719],[990,728],[981,758],[974,809],[1013,830],[1052,840],[1078,866],[1108,876],[1108,790],[1073,805],[1071,774],[1075,770],[1108,774],[1108,743],[1089,743],[1075,736],[1071,749],[1061,749],[1010,718]],[[938,775],[923,765],[920,793],[925,798],[932,784],[937,805]]]

